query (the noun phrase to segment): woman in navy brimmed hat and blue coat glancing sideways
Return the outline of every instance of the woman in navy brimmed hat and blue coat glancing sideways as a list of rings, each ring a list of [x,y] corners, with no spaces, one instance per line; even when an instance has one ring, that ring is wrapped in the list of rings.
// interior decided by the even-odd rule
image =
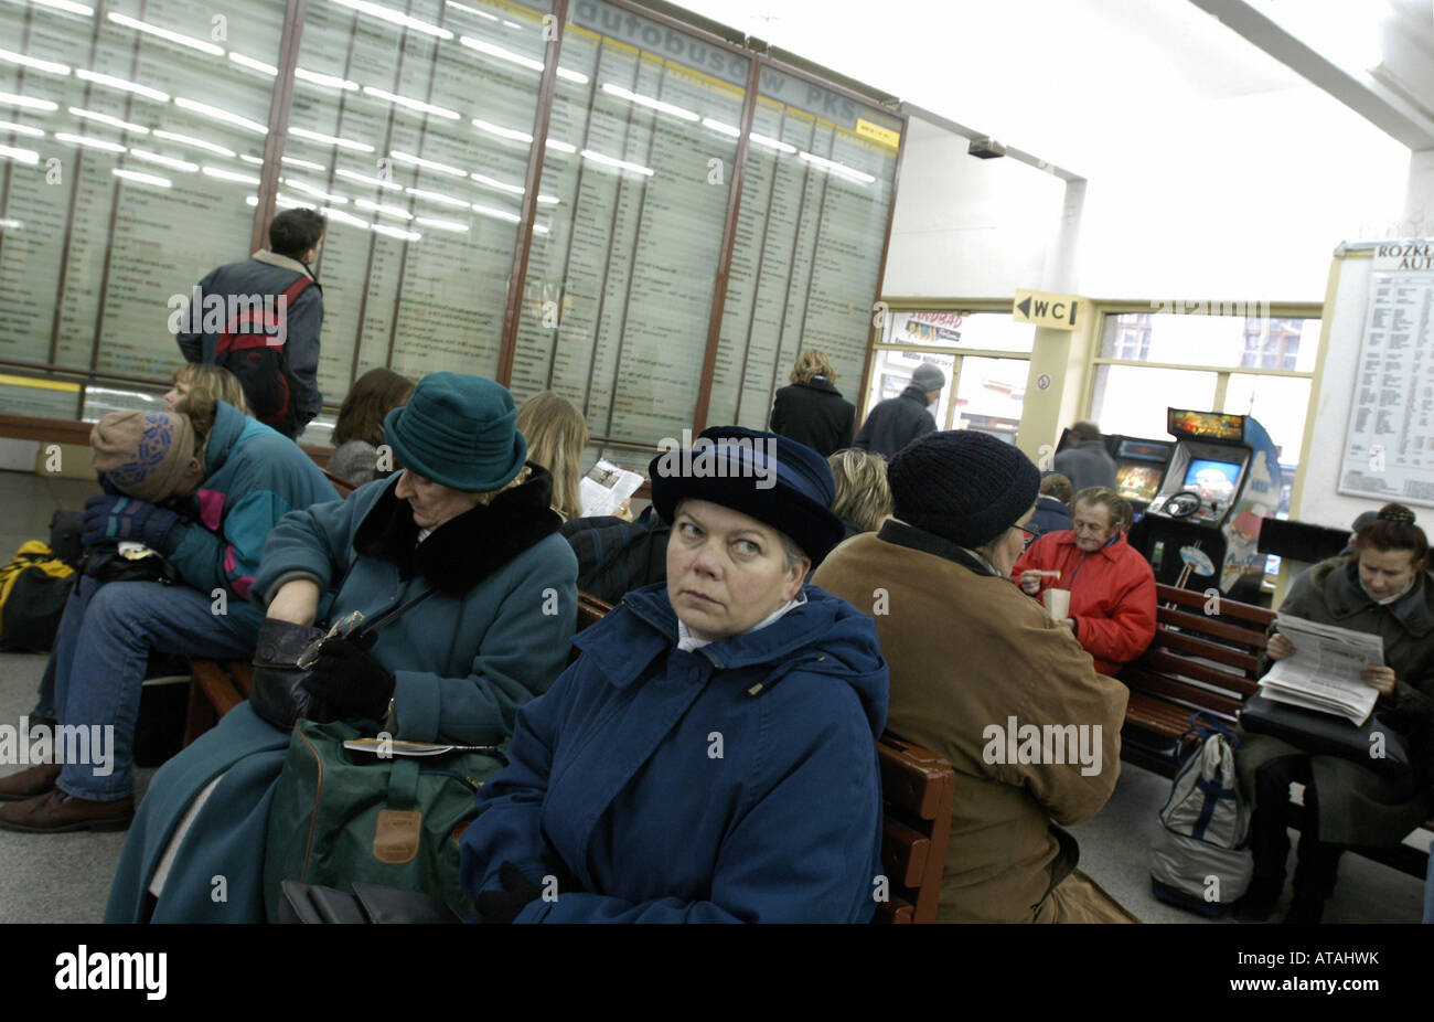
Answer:
[[[842,538],[830,469],[723,428],[650,475],[667,583],[519,712],[463,887],[488,923],[869,922],[886,663],[869,617],[803,586]]]

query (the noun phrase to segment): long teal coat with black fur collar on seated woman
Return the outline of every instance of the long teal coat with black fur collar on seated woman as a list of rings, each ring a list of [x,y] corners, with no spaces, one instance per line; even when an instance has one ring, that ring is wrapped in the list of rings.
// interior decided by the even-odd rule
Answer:
[[[429,586],[439,593],[379,633],[373,655],[394,672],[397,738],[492,744],[518,708],[562,670],[576,620],[578,563],[549,510],[552,478],[535,471],[414,545],[396,479],[287,515],[270,535],[255,593],[313,577],[333,616],[380,614]],[[326,610],[320,607],[321,613]],[[175,855],[153,922],[264,922],[264,840],[290,735],[241,703],[165,764],[130,827],[106,922],[143,919],[146,889],[176,824],[214,778]],[[224,877],[217,900],[215,877]]]

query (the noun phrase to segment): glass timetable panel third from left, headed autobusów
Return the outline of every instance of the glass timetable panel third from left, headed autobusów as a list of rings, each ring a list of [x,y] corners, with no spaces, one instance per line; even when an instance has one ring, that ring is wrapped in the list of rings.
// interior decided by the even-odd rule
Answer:
[[[749,59],[598,0],[568,17],[511,386],[654,444],[697,406]]]

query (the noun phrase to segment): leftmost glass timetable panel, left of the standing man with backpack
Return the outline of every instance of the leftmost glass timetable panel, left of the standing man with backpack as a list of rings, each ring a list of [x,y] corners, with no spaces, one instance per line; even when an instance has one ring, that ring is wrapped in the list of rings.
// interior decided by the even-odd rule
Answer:
[[[0,359],[181,362],[171,299],[248,254],[274,79],[239,59],[272,66],[282,24],[267,0],[0,3]]]

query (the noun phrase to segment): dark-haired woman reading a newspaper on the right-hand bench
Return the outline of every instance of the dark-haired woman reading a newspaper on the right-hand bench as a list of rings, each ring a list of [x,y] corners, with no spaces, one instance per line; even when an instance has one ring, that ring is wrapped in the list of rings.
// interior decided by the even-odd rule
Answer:
[[[1242,792],[1255,805],[1255,878],[1240,903],[1245,919],[1269,916],[1283,890],[1291,781],[1305,785],[1305,824],[1286,923],[1319,922],[1347,845],[1394,845],[1430,818],[1434,586],[1425,573],[1427,555],[1428,541],[1414,512],[1387,504],[1359,530],[1354,554],[1316,564],[1309,586],[1281,607],[1282,616],[1382,640],[1384,663],[1367,666],[1359,680],[1377,692],[1381,719],[1410,741],[1414,765],[1408,777],[1381,777],[1354,759],[1309,755],[1271,735],[1243,733],[1236,768]],[[1278,627],[1278,622],[1271,626],[1262,675],[1273,660],[1296,652],[1298,640]]]

